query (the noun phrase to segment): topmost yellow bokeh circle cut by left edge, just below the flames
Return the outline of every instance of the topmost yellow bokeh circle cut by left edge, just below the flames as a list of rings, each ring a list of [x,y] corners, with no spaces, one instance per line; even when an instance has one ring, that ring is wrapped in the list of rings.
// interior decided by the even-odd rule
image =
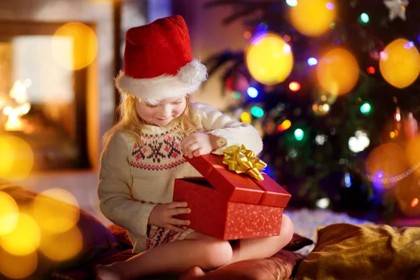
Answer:
[[[13,136],[0,136],[0,178],[25,179],[34,165],[34,153],[24,140]]]

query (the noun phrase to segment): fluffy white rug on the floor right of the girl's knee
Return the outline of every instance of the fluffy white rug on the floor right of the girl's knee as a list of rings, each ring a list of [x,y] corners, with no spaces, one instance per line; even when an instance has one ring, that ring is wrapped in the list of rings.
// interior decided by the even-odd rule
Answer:
[[[285,210],[284,214],[289,216],[290,220],[292,220],[293,228],[297,235],[307,237],[314,242],[316,241],[316,229],[325,225],[331,225],[333,223],[351,223],[356,225],[362,223],[373,224],[371,221],[352,218],[346,214],[335,213],[324,209],[309,210],[304,208],[295,211]],[[315,245],[306,246],[299,251],[296,251],[296,253],[308,255],[314,246]]]

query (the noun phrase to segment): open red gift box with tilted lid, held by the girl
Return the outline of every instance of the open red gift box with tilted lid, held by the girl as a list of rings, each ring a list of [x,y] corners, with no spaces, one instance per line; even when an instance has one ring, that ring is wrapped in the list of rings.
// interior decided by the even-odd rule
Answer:
[[[263,174],[258,181],[236,174],[223,156],[186,158],[204,178],[175,179],[174,202],[188,202],[190,228],[223,240],[279,235],[290,194]]]

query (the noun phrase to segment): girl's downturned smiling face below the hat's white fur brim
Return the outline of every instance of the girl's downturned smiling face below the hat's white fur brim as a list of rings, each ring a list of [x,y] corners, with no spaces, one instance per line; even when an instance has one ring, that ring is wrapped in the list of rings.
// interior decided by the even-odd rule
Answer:
[[[165,127],[175,120],[186,109],[186,97],[163,99],[159,104],[152,105],[137,99],[136,109],[139,117],[149,125]]]

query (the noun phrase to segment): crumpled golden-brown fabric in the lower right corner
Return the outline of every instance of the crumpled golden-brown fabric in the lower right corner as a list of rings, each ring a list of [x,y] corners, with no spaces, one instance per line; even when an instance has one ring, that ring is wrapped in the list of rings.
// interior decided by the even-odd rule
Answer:
[[[420,279],[420,228],[339,223],[317,239],[295,279]]]

